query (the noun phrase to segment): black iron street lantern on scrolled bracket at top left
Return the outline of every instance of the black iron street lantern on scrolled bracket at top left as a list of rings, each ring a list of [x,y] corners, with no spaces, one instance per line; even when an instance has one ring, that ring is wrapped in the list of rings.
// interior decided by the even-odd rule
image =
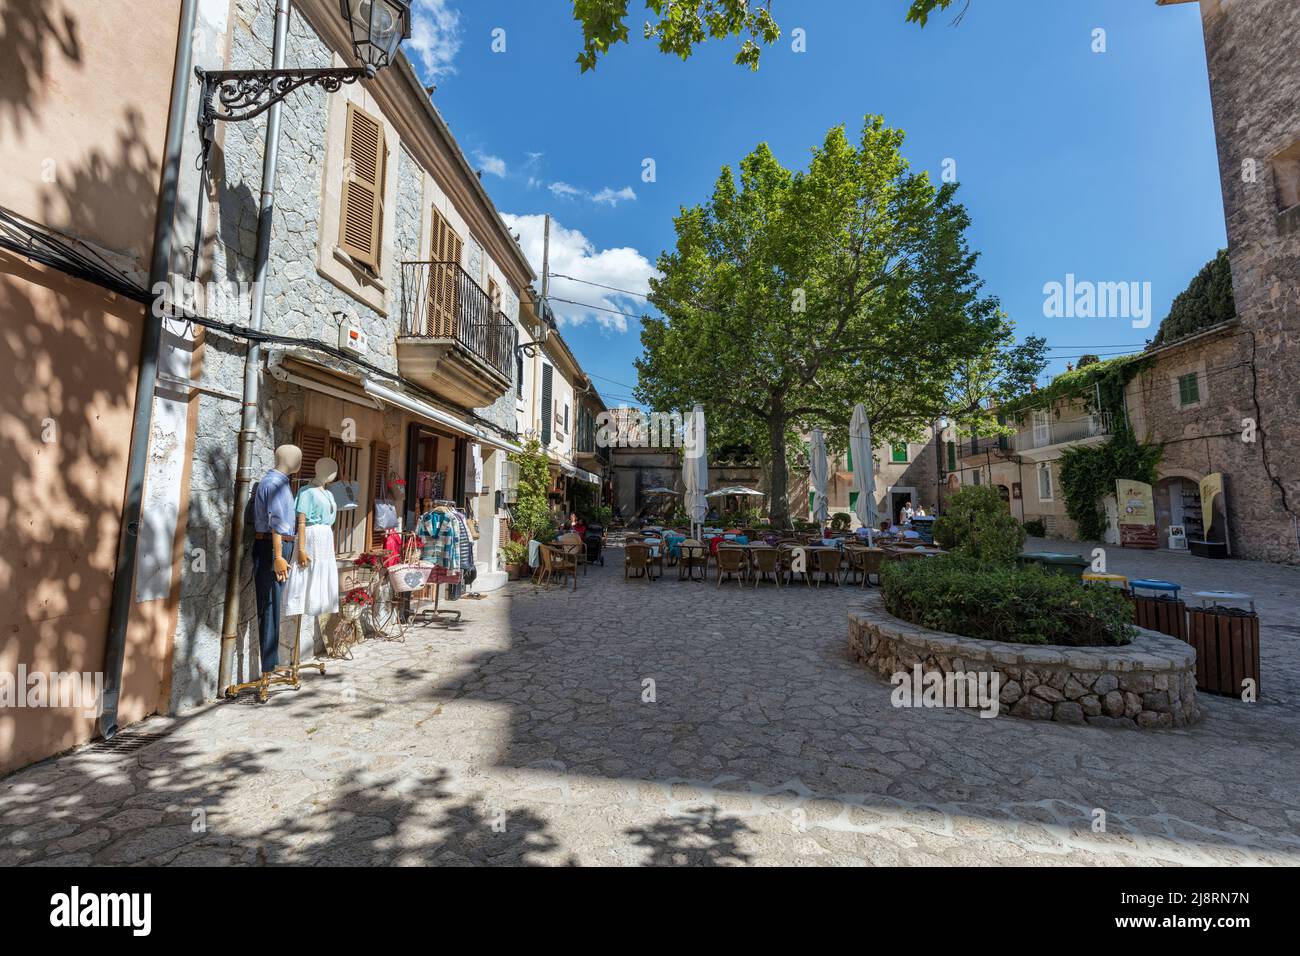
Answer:
[[[204,70],[195,68],[199,92],[199,129],[204,140],[212,138],[217,120],[240,122],[266,112],[300,86],[318,86],[337,92],[391,65],[398,44],[411,36],[408,0],[339,0],[339,13],[347,23],[352,52],[360,66],[316,70]]]

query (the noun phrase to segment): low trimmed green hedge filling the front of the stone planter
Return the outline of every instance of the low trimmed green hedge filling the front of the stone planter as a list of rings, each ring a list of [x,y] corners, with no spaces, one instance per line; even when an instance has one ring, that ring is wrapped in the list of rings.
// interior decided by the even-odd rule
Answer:
[[[1036,566],[958,555],[885,562],[885,610],[935,631],[1014,644],[1128,644],[1132,606],[1122,592]]]

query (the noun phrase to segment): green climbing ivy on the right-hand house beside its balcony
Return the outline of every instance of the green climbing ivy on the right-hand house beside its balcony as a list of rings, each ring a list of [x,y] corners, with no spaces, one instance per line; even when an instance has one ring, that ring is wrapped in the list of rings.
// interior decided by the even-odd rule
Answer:
[[[1079,525],[1084,541],[1100,541],[1106,535],[1108,494],[1114,494],[1115,481],[1156,484],[1156,468],[1164,449],[1139,442],[1132,431],[1121,424],[1101,445],[1076,445],[1061,455],[1061,490],[1065,511]]]

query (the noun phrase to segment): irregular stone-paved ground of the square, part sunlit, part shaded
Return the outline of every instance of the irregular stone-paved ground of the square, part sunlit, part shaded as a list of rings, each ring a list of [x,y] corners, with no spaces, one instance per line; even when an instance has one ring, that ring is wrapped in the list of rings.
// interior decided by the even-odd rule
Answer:
[[[1296,864],[1300,575],[1110,563],[1253,592],[1262,701],[1154,732],[894,709],[846,656],[859,589],[624,581],[610,550],[6,778],[0,864]]]

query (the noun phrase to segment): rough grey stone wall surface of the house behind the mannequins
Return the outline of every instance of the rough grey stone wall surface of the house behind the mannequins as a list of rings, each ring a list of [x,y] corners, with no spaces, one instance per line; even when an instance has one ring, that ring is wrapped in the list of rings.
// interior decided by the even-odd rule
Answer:
[[[234,0],[229,34],[230,69],[265,68],[270,64],[274,7],[265,0]],[[208,48],[218,49],[226,43],[217,36],[208,36],[202,42]],[[332,49],[302,13],[292,9],[286,64],[324,66],[332,62]],[[343,96],[350,91],[355,92],[355,87],[344,87],[333,96]],[[263,328],[277,334],[337,345],[338,320],[334,313],[342,312],[350,323],[360,325],[367,333],[367,362],[398,372],[395,339],[400,323],[399,263],[428,258],[421,254],[422,220],[428,206],[424,173],[402,143],[395,137],[390,138],[387,170],[389,176],[395,176],[395,195],[391,221],[385,226],[390,233],[390,245],[385,246],[381,264],[381,278],[389,295],[386,312],[378,311],[361,297],[330,281],[317,267],[324,228],[322,191],[326,148],[330,143],[329,122],[330,95],[316,87],[302,87],[283,100]],[[265,131],[265,116],[247,122],[218,125],[218,142],[212,153],[214,207],[209,206],[213,238],[207,250],[209,255],[204,261],[205,269],[200,273],[200,277],[213,282],[252,282]],[[491,265],[490,258],[477,243],[472,250],[481,269]],[[472,274],[477,276],[480,272]],[[519,297],[508,282],[502,284],[502,310],[511,320],[517,321]],[[247,315],[221,317],[247,321]],[[265,351],[264,349],[264,354]],[[347,364],[324,352],[303,354],[312,362],[333,368],[346,368]],[[198,397],[185,548],[187,555],[202,549],[205,559],[202,567],[188,562],[182,574],[169,701],[172,711],[212,700],[217,689],[244,355],[243,341],[216,332],[205,333],[202,372],[198,376],[204,390]],[[295,429],[304,419],[304,408],[306,397],[300,388],[278,382],[270,375],[261,375],[257,441],[252,453],[255,477],[272,467],[277,445],[294,440]],[[481,414],[514,431],[512,389],[500,402]],[[385,412],[382,433],[360,438],[387,441],[393,460],[399,462],[403,451],[402,419],[403,415]],[[333,425],[330,431],[337,434],[339,425]],[[311,463],[306,466],[311,468]],[[246,555],[252,544],[251,536],[250,520],[247,537],[238,545]],[[493,557],[489,549],[484,559],[490,562]],[[257,667],[251,562],[244,561],[235,678],[244,680],[256,676]]]

